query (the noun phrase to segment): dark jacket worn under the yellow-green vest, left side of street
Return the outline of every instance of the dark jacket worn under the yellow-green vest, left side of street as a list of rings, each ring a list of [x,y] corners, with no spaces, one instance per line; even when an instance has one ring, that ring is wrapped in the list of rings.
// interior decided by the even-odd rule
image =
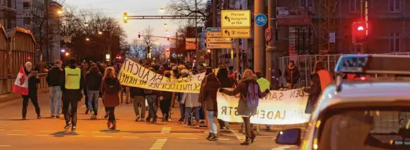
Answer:
[[[69,68],[76,68],[77,66],[70,65]],[[80,89],[66,89],[65,88],[65,69],[62,70],[62,75],[60,79],[60,87],[62,90],[62,101],[81,101],[82,93],[81,90],[84,88],[84,75],[81,73],[80,77]]]

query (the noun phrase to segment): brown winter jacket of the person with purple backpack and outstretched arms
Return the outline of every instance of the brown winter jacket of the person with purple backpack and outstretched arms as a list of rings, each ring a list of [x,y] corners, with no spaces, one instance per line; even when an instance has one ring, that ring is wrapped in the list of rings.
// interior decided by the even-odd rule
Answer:
[[[257,87],[254,86],[254,88],[258,88],[258,97],[260,99],[266,97],[266,93],[260,91],[258,82],[256,82],[257,79],[258,77],[256,77],[256,75],[247,75],[240,79],[238,86],[236,86],[234,90],[223,90],[223,93],[230,96],[235,96],[240,93],[240,99],[238,103],[238,115],[240,116],[253,116],[258,111],[257,107],[250,108],[247,105],[247,100],[245,99],[245,97],[247,97],[248,95],[248,84],[257,85]]]

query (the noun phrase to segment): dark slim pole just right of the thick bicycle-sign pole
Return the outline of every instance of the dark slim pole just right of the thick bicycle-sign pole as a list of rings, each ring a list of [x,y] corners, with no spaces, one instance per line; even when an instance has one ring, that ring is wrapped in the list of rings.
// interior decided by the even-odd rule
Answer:
[[[276,0],[268,1],[268,25],[271,29],[271,40],[268,41],[268,47],[266,48],[266,78],[271,83],[272,89],[279,88],[279,75],[277,68],[279,68],[279,51],[276,47]],[[273,67],[272,67],[273,58]],[[273,69],[273,74],[272,74]]]

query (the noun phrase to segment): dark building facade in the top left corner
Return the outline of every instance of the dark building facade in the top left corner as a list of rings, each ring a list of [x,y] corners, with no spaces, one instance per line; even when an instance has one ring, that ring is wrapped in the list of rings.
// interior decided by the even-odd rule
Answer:
[[[16,27],[16,0],[0,0],[0,24],[4,29]]]

